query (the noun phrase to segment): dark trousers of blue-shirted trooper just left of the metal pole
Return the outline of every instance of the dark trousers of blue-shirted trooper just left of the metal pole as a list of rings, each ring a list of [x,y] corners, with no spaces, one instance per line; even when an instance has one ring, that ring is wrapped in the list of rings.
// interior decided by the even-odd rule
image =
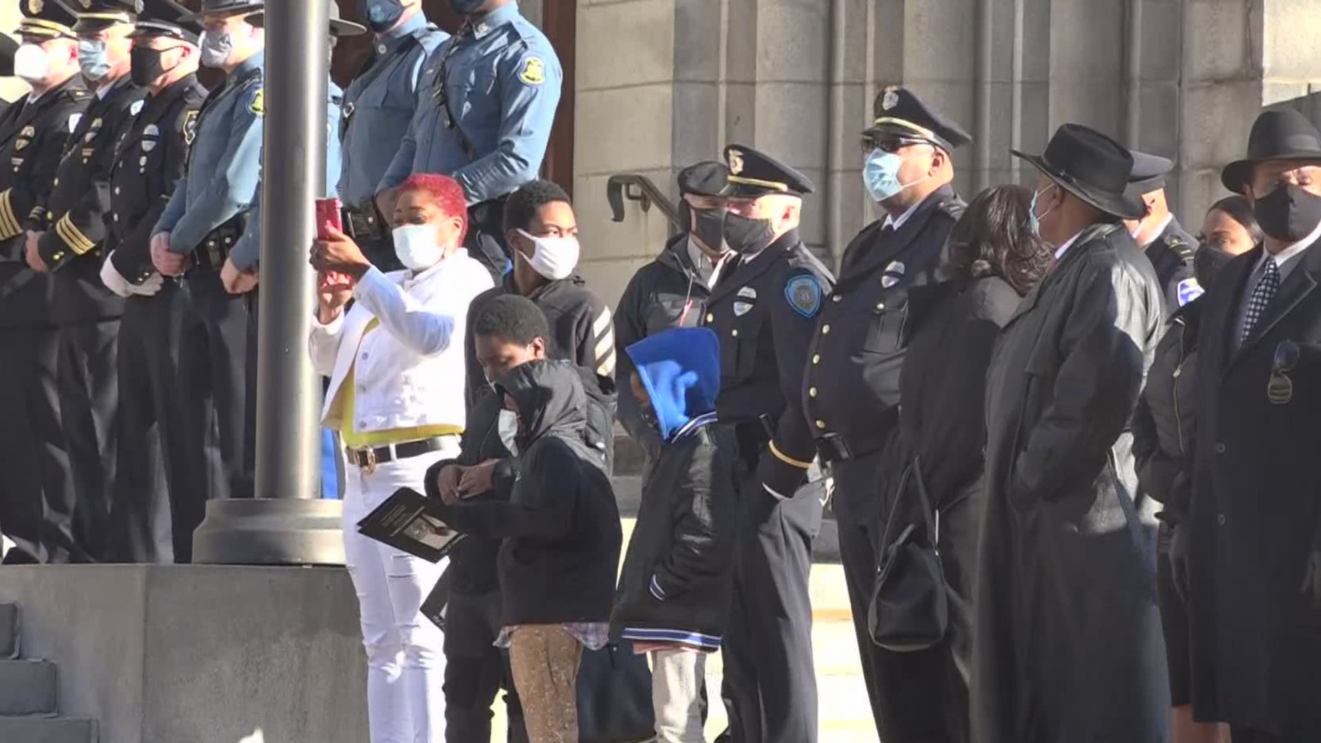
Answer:
[[[184,438],[197,452],[190,467],[202,473],[202,487],[190,494],[189,517],[176,518],[176,528],[192,534],[201,524],[206,501],[254,494],[255,395],[250,393],[256,390],[248,389],[255,369],[248,346],[255,329],[250,309],[256,295],[230,295],[219,272],[206,268],[184,276],[182,295],[178,378]],[[176,562],[192,561],[192,543],[186,554],[177,547]]]

